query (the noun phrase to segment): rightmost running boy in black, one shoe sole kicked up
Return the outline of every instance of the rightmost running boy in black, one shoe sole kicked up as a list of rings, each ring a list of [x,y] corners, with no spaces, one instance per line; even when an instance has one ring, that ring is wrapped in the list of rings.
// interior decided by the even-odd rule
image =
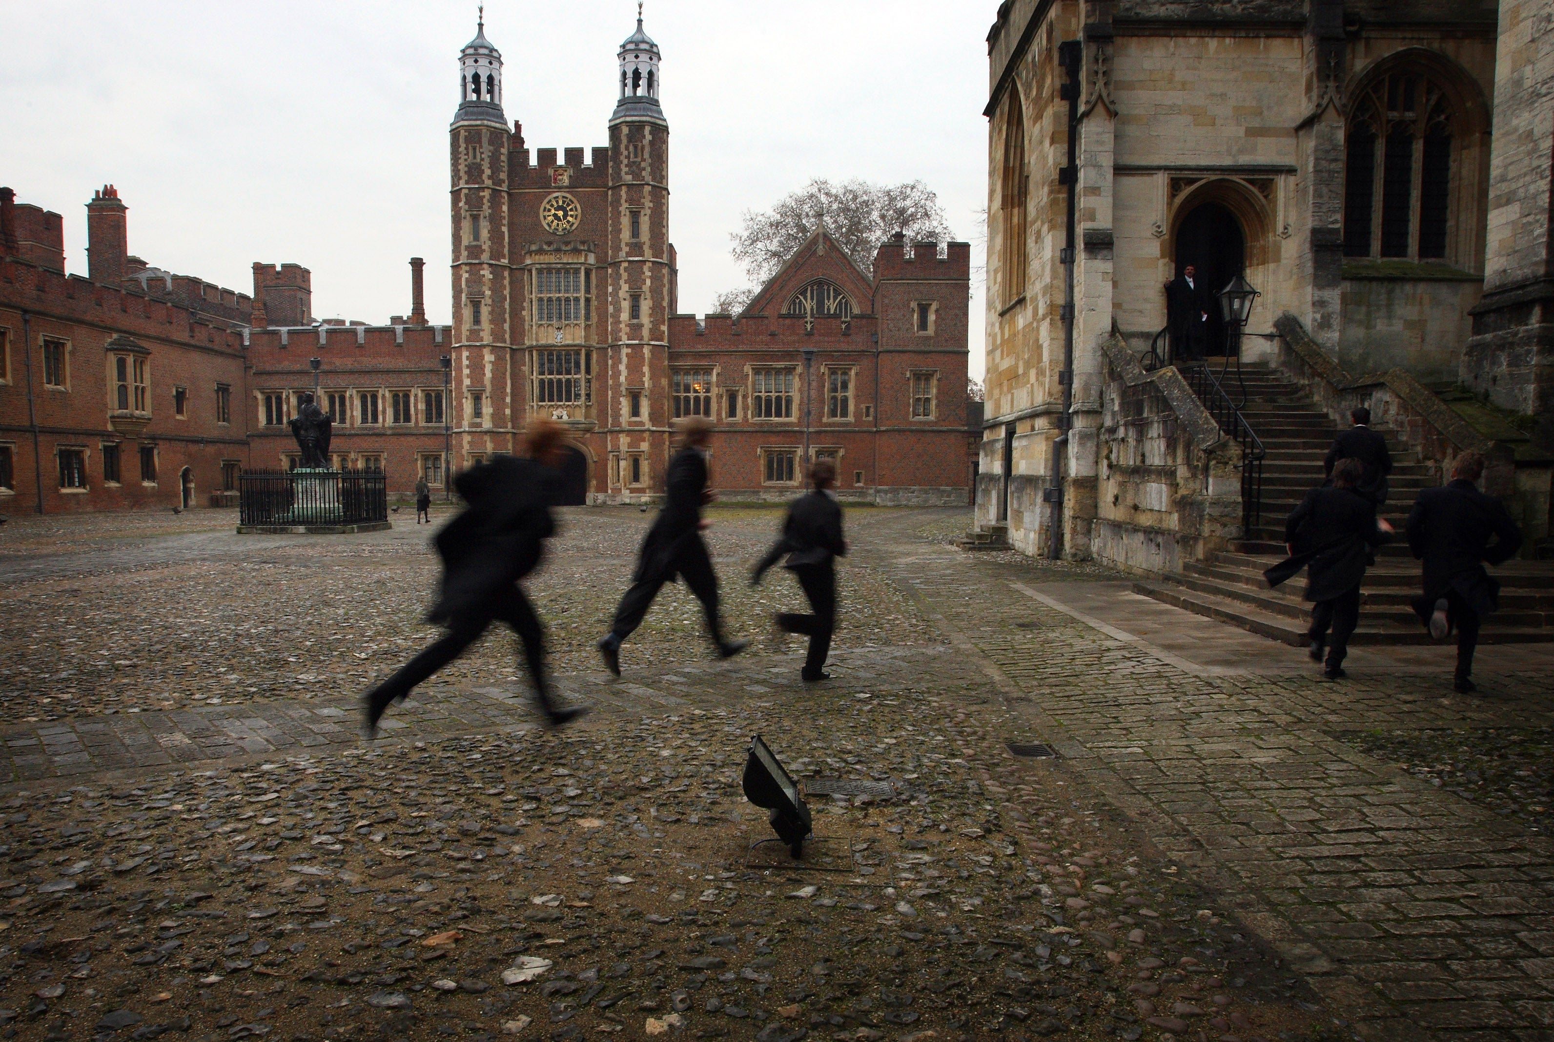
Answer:
[[[1506,506],[1478,491],[1483,475],[1484,457],[1464,452],[1451,467],[1451,481],[1423,489],[1408,514],[1408,548],[1425,562],[1425,590],[1414,598],[1414,613],[1436,640],[1456,627],[1453,688],[1459,694],[1478,689],[1470,679],[1478,627],[1500,604],[1500,582],[1484,571],[1484,562],[1501,564],[1521,548],[1521,530]]]

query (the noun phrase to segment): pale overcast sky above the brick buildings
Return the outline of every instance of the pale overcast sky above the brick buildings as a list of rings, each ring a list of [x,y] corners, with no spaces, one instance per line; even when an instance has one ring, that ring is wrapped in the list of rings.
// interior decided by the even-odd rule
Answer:
[[[995,0],[648,0],[664,51],[681,311],[743,286],[729,233],[811,177],[923,180],[982,266]],[[448,321],[448,124],[476,5],[448,0],[0,0],[0,183],[64,214],[112,182],[129,250],[252,292],[252,262],[312,270],[320,317]],[[608,144],[631,0],[491,0],[503,109],[530,149]],[[971,371],[982,374],[974,273]]]

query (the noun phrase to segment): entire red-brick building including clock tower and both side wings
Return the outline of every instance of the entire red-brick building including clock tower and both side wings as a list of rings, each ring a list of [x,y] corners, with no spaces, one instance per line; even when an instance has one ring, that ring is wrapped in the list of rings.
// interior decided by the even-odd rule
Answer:
[[[426,321],[420,259],[384,326],[314,320],[297,264],[255,264],[252,297],[151,267],[112,186],[87,207],[90,278],[67,276],[59,214],[0,189],[0,511],[225,502],[238,467],[292,466],[286,422],[315,388],[336,466],[384,471],[390,495],[443,489],[545,415],[573,432],[569,502],[643,502],[674,421],[709,416],[729,498],[786,498],[827,457],[848,498],[965,503],[970,247],[898,238],[866,278],[816,230],[741,315],[676,314],[640,20],[618,57],[609,146],[584,162],[508,127],[483,26],[460,53],[452,326]]]

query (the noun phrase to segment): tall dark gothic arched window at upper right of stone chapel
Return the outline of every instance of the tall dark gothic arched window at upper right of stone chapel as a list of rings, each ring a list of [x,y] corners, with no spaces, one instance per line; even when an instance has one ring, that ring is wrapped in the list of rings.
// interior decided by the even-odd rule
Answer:
[[[1371,81],[1349,116],[1344,256],[1447,256],[1453,107],[1428,75]]]

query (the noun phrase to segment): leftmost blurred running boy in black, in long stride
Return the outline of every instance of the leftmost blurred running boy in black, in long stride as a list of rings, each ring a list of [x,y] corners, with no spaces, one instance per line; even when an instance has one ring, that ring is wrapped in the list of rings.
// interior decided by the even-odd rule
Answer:
[[[458,657],[494,621],[507,623],[524,641],[535,705],[549,727],[559,727],[587,710],[558,708],[545,679],[545,630],[517,581],[539,565],[544,540],[555,533],[550,503],[564,452],[561,425],[535,419],[524,435],[527,460],[496,457],[474,466],[454,486],[466,509],[437,533],[443,557],[443,590],[427,621],[446,623],[448,634],[379,683],[362,699],[362,731],[378,735],[378,721],[390,702]]]

